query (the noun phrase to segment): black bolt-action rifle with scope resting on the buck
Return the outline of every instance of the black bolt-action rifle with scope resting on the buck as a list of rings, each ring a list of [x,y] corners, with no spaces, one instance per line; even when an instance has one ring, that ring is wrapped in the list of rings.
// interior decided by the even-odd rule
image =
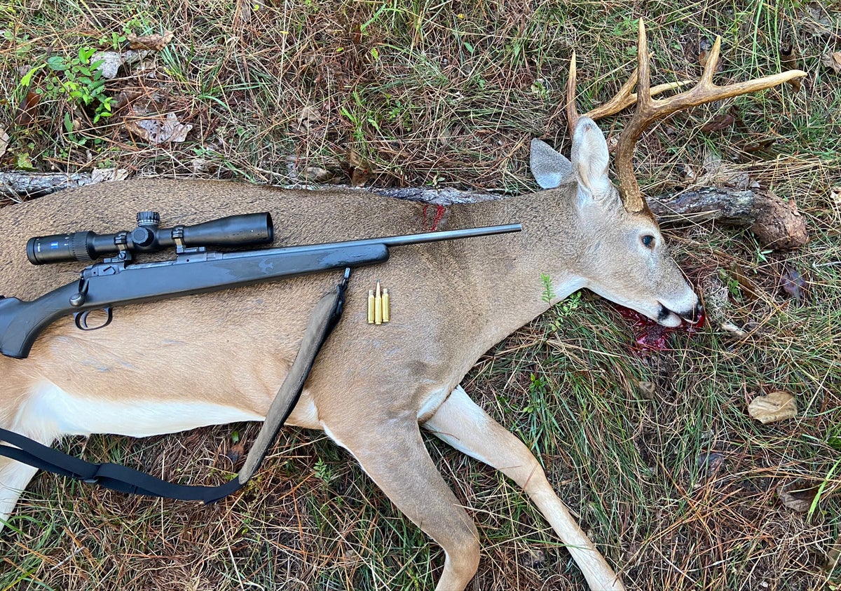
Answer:
[[[160,228],[154,211],[137,214],[131,232],[98,235],[73,232],[33,237],[26,246],[32,264],[87,262],[79,280],[33,301],[0,296],[0,353],[24,359],[38,335],[50,323],[73,314],[81,330],[108,326],[113,307],[178,296],[226,290],[318,273],[382,263],[389,247],[519,232],[520,224],[485,226],[446,232],[329,242],[285,248],[217,252],[207,247],[242,247],[272,242],[272,216],[268,213],[228,216],[196,226]],[[155,263],[132,263],[132,253],[176,248],[176,258]],[[99,326],[89,326],[88,314],[105,311]]]

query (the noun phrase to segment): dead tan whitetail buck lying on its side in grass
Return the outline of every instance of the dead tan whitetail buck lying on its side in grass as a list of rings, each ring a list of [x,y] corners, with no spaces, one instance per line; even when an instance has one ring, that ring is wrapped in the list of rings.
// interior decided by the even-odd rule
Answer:
[[[438,589],[463,589],[479,563],[479,535],[431,461],[419,425],[523,487],[569,547],[594,589],[622,583],[554,493],[532,453],[474,404],[459,382],[495,343],[546,311],[541,274],[556,301],[589,288],[666,326],[696,317],[699,301],[674,264],[632,175],[633,143],[651,120],[715,99],[770,88],[802,72],[711,84],[718,43],[692,90],[653,100],[640,27],[637,113],[618,147],[621,194],[608,179],[604,136],[570,109],[571,162],[541,146],[536,194],[452,206],[449,228],[521,222],[505,236],[395,249],[357,269],[345,317],[288,423],[322,429],[349,450],[397,507],[446,551]],[[632,83],[614,101],[624,107]],[[570,84],[572,104],[574,82]],[[605,114],[604,112],[600,114]],[[578,119],[577,124],[574,121]],[[623,206],[624,203],[624,206]],[[137,180],[98,184],[0,210],[0,285],[33,299],[74,279],[78,265],[26,262],[30,236],[88,228],[111,232],[139,210],[193,223],[269,210],[279,242],[331,242],[428,229],[421,205],[350,191],[280,191],[242,184]],[[83,333],[67,319],[38,338],[28,359],[0,358],[0,426],[50,445],[64,435],[144,437],[233,421],[260,421],[299,347],[315,301],[337,273],[119,308]],[[391,322],[366,322],[376,279],[392,295]],[[0,459],[0,525],[35,469]]]

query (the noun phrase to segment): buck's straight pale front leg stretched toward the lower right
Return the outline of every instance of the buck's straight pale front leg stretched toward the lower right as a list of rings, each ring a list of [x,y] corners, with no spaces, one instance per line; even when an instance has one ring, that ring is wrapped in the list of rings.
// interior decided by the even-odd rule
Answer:
[[[490,418],[461,386],[424,423],[459,451],[502,471],[520,485],[567,545],[592,589],[624,589],[604,557],[569,514],[540,464],[520,439]]]

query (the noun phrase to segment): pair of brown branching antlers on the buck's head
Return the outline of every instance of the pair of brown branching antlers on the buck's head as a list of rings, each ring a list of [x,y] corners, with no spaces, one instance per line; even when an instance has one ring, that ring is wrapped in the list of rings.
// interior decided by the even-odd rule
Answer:
[[[639,66],[631,75],[630,79],[620,89],[616,97],[601,105],[598,109],[593,109],[587,116],[592,119],[604,117],[608,114],[614,114],[624,109],[632,103],[634,99],[631,94],[631,88],[634,83],[637,84],[637,110],[634,112],[631,120],[622,130],[619,136],[619,142],[616,145],[616,175],[619,177],[619,194],[621,196],[622,204],[628,211],[643,211],[648,210],[645,203],[642,191],[637,184],[637,178],[633,173],[633,149],[642,135],[643,131],[653,123],[653,121],[664,118],[676,111],[695,107],[699,104],[711,103],[715,100],[729,99],[740,94],[755,93],[758,90],[765,88],[772,88],[778,84],[786,83],[794,78],[806,76],[806,72],[802,70],[789,70],[780,74],[773,74],[754,80],[748,80],[743,83],[733,83],[727,86],[717,86],[712,82],[712,73],[715,70],[718,62],[718,54],[722,48],[722,38],[717,37],[712,50],[707,56],[706,66],[704,72],[701,73],[701,79],[696,85],[689,90],[680,94],[675,94],[668,99],[653,99],[652,97],[658,93],[662,93],[669,88],[677,88],[684,86],[686,83],[671,83],[660,84],[654,88],[650,88],[649,73],[648,73],[648,41],[645,36],[645,24],[643,19],[639,19],[639,37],[637,40],[637,60]],[[578,114],[575,112],[574,93],[575,93],[575,54],[573,54],[572,63],[570,64],[570,74],[567,83],[567,116],[569,118],[570,128],[574,128],[574,121],[578,120]]]

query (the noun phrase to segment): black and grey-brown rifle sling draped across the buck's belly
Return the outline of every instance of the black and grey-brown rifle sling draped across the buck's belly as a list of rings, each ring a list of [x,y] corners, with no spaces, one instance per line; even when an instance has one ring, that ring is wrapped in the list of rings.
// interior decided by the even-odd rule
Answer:
[[[349,276],[350,269],[346,269],[345,276],[336,287],[336,291],[322,297],[315,305],[292,368],[269,407],[266,420],[260,433],[257,434],[254,445],[251,445],[245,465],[237,477],[230,482],[219,487],[173,484],[119,464],[94,464],[80,460],[6,429],[0,429],[0,439],[11,445],[0,445],[0,455],[34,466],[39,470],[98,484],[119,493],[175,498],[182,501],[204,501],[204,503],[220,501],[239,490],[254,475],[277,437],[278,431],[283,427],[289,413],[292,413],[295,404],[298,403],[301,392],[304,391],[304,382],[309,375],[309,370],[315,363],[315,357],[341,318]]]

